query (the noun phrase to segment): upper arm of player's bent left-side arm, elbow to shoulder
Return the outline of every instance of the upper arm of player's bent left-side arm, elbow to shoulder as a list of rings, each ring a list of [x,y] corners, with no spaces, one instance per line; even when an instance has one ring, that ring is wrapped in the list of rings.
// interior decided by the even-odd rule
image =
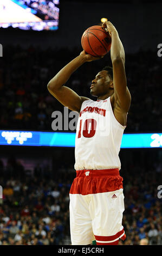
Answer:
[[[89,100],[87,97],[79,96],[72,89],[66,86],[62,86],[57,90],[51,90],[48,86],[48,90],[63,106],[68,107],[72,111],[80,112],[82,102]]]

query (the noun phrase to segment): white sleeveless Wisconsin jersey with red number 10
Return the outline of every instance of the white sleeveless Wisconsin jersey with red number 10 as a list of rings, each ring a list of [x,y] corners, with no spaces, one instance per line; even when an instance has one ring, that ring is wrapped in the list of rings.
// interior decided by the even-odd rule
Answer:
[[[116,120],[110,97],[83,101],[76,128],[75,170],[120,170],[119,151],[125,127]]]

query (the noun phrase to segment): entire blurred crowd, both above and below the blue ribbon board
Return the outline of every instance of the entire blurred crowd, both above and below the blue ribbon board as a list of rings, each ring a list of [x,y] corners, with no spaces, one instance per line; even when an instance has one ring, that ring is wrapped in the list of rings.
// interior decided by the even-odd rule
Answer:
[[[0,58],[0,128],[50,131],[51,114],[64,109],[49,94],[47,84],[80,52],[80,48],[4,47]],[[111,65],[109,54],[85,63],[66,85],[95,100],[90,84],[105,65]],[[155,52],[126,54],[127,85],[132,95],[126,132],[160,131],[161,68],[161,58]],[[162,199],[157,196],[162,180],[160,162],[133,161],[120,174],[124,178],[127,239],[119,245],[162,245]],[[74,178],[75,170],[59,163],[52,170],[42,172],[36,166],[28,172],[16,159],[8,160],[6,166],[0,161],[0,245],[69,245],[69,190]]]

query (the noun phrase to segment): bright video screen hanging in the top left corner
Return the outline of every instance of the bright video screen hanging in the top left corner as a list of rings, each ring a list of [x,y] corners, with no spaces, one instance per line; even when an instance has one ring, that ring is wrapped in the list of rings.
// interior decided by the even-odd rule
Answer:
[[[0,27],[57,30],[59,12],[59,0],[0,0]]]

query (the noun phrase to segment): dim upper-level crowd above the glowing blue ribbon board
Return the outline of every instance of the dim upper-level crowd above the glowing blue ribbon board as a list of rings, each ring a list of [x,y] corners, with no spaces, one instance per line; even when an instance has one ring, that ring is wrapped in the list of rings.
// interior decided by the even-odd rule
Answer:
[[[51,130],[51,113],[63,113],[63,106],[49,94],[47,84],[81,50],[5,46],[0,59],[1,129]],[[112,65],[109,53],[101,60],[82,65],[66,85],[77,94],[96,100],[90,95],[90,84],[105,65]],[[156,52],[126,54],[127,86],[132,95],[126,132],[160,131],[161,68]]]

